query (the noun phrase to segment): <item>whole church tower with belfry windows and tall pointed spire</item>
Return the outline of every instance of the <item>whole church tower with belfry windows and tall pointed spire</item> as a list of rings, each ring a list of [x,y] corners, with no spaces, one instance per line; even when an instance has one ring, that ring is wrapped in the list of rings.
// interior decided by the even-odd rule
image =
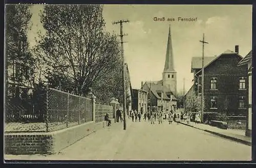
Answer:
[[[167,49],[165,56],[165,65],[163,70],[163,86],[166,86],[170,91],[176,95],[177,92],[177,72],[174,70],[174,54],[172,46],[172,36],[170,35],[170,26],[169,34],[167,41]]]

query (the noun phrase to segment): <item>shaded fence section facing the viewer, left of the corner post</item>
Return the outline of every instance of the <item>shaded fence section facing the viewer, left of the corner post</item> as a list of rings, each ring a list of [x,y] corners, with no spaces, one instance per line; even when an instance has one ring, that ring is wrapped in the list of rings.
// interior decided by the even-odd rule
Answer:
[[[16,88],[20,94],[7,92],[5,96],[4,131],[46,131],[46,90],[44,88]],[[28,90],[32,91],[28,93]]]

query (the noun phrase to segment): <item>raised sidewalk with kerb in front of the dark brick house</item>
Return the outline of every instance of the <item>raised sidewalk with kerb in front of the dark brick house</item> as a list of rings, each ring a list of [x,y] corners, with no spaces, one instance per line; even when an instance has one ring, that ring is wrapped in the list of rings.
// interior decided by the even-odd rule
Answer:
[[[196,124],[195,122],[190,122],[190,124],[187,124],[186,122],[181,122],[181,124],[194,127],[212,134],[216,134],[221,137],[236,141],[238,143],[242,143],[244,145],[251,146],[251,137],[245,136],[245,130],[221,129],[207,124]]]

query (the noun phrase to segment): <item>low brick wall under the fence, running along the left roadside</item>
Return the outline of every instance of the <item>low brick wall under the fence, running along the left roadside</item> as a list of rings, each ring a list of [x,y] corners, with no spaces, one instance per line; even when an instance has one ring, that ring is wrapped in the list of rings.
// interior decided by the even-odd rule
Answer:
[[[112,119],[112,123],[113,119]],[[106,122],[89,122],[54,132],[5,133],[5,154],[31,155],[56,153],[84,136],[106,127]]]

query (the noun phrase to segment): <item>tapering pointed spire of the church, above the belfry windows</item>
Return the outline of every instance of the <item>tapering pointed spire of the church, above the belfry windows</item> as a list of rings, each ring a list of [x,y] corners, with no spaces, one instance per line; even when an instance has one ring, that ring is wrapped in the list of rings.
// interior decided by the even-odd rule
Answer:
[[[173,45],[172,45],[172,35],[170,34],[170,25],[169,25],[169,34],[167,41],[167,49],[165,55],[165,65],[163,72],[176,72],[174,70],[174,56],[173,56]]]

